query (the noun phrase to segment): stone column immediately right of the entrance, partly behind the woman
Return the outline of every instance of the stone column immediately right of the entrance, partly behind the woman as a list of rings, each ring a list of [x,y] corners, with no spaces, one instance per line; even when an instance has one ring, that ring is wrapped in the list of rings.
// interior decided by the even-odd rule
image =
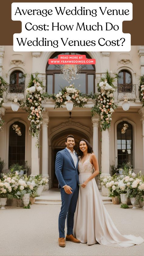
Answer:
[[[93,124],[93,150],[94,154],[96,155],[98,159],[98,128],[99,128],[99,116],[93,116],[91,118],[91,122]]]

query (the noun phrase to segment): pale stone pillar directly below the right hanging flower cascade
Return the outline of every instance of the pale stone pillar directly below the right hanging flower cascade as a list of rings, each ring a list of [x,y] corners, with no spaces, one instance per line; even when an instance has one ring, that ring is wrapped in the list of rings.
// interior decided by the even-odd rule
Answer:
[[[109,174],[109,130],[102,131],[101,175]]]

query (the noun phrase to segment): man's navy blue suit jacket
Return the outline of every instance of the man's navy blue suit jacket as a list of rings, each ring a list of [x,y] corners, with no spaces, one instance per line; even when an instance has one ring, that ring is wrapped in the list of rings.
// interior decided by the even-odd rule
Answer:
[[[57,152],[55,173],[59,182],[59,188],[62,188],[64,185],[69,185],[72,189],[74,189],[77,183],[79,184],[77,168],[78,161],[75,168],[74,161],[66,148]]]

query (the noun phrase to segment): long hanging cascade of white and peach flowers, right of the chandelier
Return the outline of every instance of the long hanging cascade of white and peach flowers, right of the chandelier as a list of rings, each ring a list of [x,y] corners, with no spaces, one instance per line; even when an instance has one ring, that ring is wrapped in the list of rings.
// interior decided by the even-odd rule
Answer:
[[[105,74],[104,78],[101,78],[101,81],[98,83],[98,94],[96,96],[96,102],[94,107],[91,109],[91,114],[94,116],[95,112],[100,115],[100,122],[101,122],[101,130],[106,130],[111,126],[111,116],[114,112],[114,109],[117,106],[114,103],[114,92],[115,87],[113,82],[117,78],[111,77],[108,71]]]

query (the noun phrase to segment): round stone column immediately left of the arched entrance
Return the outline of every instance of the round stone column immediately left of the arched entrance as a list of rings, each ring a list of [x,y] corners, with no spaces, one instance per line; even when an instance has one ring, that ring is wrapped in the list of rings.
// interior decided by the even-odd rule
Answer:
[[[48,177],[48,128],[49,117],[43,118],[42,124],[42,174]]]

